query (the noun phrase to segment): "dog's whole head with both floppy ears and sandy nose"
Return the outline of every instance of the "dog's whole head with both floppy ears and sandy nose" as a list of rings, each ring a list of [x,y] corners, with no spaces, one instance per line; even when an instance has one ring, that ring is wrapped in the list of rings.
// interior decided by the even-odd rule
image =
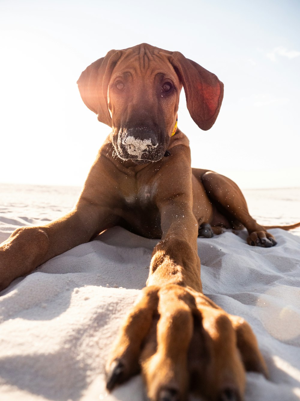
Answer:
[[[179,52],[145,43],[109,51],[88,66],[77,83],[86,106],[112,127],[117,155],[137,163],[164,156],[182,86],[190,115],[202,130],[212,127],[223,99],[216,75]]]

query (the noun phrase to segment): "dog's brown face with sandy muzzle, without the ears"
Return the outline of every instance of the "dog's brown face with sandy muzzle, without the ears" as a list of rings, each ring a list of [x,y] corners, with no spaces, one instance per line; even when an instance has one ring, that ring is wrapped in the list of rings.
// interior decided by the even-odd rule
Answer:
[[[176,124],[182,84],[167,61],[152,55],[121,59],[108,85],[112,140],[122,160],[160,160]]]

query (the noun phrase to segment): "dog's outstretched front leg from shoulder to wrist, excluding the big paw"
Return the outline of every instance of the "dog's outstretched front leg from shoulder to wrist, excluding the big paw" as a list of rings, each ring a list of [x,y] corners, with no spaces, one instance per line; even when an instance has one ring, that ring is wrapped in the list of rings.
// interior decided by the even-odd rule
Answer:
[[[160,211],[162,239],[152,253],[147,285],[172,283],[202,292],[190,148],[175,146],[172,158],[162,168],[158,181],[156,204]],[[179,174],[174,174],[174,166]]]

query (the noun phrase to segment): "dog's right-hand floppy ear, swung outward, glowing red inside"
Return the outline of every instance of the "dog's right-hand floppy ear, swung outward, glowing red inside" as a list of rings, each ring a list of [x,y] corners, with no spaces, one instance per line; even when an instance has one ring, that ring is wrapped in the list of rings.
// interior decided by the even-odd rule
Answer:
[[[216,75],[179,52],[172,53],[170,63],[183,84],[186,105],[192,119],[202,130],[209,130],[220,111],[223,83]]]

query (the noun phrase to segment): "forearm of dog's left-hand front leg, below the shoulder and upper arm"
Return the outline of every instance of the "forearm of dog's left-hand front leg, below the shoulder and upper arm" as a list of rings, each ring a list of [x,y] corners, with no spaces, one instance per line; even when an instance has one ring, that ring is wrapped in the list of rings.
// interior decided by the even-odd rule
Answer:
[[[67,215],[49,224],[20,227],[0,244],[0,291],[16,277],[31,273],[105,229],[111,221],[101,208],[81,200]]]

